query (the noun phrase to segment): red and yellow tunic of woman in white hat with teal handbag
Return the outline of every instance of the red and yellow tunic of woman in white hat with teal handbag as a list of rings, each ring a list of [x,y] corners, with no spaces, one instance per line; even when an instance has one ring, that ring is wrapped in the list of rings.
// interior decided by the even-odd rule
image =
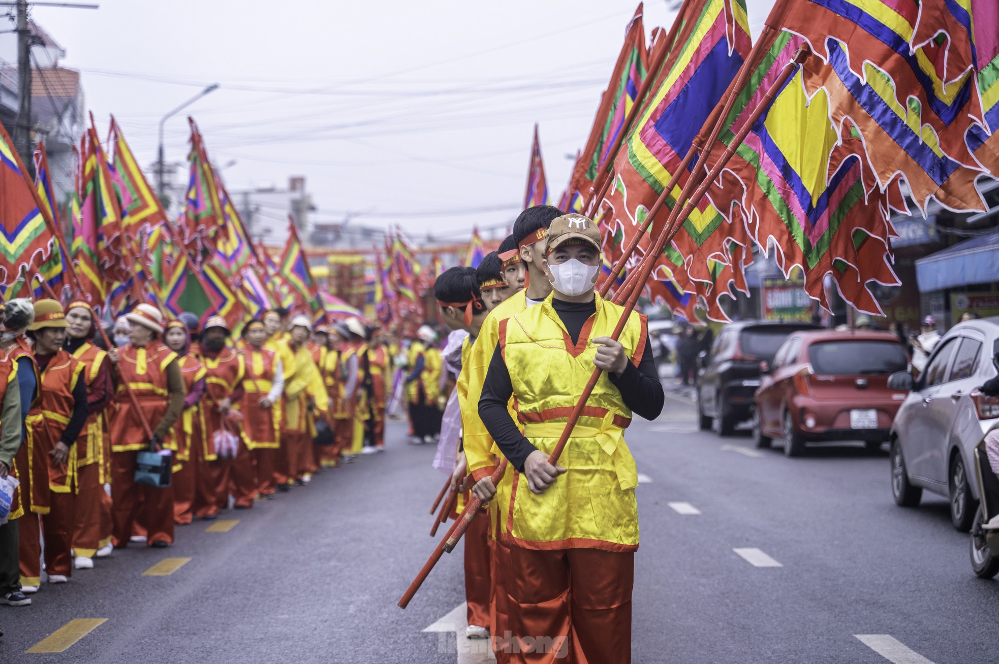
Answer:
[[[125,388],[132,388],[139,408],[150,426],[163,419],[167,413],[169,390],[167,366],[177,359],[177,353],[161,341],[152,341],[141,348],[125,345],[118,350],[120,381],[115,390],[115,402],[108,417],[111,430],[111,450],[135,451],[149,446],[149,434],[135,412]]]

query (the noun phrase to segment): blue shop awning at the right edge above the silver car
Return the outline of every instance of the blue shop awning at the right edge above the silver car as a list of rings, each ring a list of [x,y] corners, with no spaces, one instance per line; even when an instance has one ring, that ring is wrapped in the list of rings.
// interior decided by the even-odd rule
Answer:
[[[999,232],[916,261],[916,283],[922,293],[991,282],[999,282]]]

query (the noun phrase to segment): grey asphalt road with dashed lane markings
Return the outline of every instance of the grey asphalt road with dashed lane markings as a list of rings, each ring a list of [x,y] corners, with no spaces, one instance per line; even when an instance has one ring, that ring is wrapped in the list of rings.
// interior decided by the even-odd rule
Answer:
[[[0,607],[0,662],[487,661],[447,625],[462,617],[460,550],[396,605],[433,549],[444,481],[432,446],[404,434],[390,423],[385,453],[225,513],[239,519],[227,532],[197,521],[171,548],[133,545],[43,584],[30,607]],[[747,431],[697,431],[675,392],[627,440],[643,475],[632,661],[999,661],[999,585],[971,572],[943,498],[895,506],[887,454],[757,451]],[[190,561],[143,574],[174,557]],[[87,618],[106,621],[64,652],[25,652]]]

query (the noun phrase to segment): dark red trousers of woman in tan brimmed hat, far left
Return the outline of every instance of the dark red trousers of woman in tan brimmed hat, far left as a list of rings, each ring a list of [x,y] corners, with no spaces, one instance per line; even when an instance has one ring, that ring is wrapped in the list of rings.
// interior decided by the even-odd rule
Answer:
[[[17,519],[18,557],[21,567],[21,585],[39,585],[42,576],[42,545],[39,535],[45,538],[45,571],[48,574],[73,574],[72,493],[52,492],[51,511],[48,514],[28,512]]]

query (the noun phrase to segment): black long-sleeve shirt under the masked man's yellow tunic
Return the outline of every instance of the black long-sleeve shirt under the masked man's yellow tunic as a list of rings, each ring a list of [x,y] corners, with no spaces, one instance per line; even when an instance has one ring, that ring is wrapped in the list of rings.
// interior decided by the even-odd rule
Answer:
[[[582,332],[582,327],[586,321],[596,314],[595,301],[568,303],[552,299],[551,307],[558,315],[562,325],[565,326],[573,343],[578,341],[579,333]],[[635,367],[633,363],[628,361],[620,375],[611,373],[609,378],[610,383],[617,387],[620,392],[624,405],[632,412],[645,419],[655,419],[659,416],[665,395],[647,338],[638,366]],[[523,461],[530,452],[537,448],[520,433],[506,410],[506,403],[509,402],[512,393],[513,384],[510,381],[509,370],[503,361],[502,350],[498,344],[486,372],[483,394],[479,400],[479,416],[490,435],[496,440],[503,456],[509,460],[514,468],[522,472]]]

